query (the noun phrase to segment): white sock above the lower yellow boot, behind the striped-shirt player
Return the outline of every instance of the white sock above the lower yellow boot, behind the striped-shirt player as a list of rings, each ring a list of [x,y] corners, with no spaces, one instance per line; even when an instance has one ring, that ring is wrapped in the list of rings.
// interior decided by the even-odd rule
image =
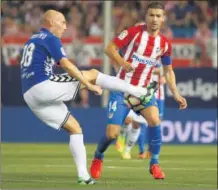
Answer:
[[[127,134],[127,139],[126,139],[126,146],[125,146],[125,152],[130,152],[134,144],[136,143],[139,134],[140,134],[141,128],[139,127],[138,129],[131,128]]]

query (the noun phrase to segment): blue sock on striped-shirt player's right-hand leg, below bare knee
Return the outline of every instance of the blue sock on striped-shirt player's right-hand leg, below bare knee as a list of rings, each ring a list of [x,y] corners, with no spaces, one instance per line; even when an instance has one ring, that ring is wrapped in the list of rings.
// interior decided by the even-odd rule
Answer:
[[[161,147],[161,128],[160,125],[148,127],[148,146],[152,154],[150,165],[158,164]]]

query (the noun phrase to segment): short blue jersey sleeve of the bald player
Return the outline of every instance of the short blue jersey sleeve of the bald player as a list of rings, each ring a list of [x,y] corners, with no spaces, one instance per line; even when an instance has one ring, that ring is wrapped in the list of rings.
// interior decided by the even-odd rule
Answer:
[[[67,57],[60,39],[55,37],[47,38],[45,46],[56,62]]]

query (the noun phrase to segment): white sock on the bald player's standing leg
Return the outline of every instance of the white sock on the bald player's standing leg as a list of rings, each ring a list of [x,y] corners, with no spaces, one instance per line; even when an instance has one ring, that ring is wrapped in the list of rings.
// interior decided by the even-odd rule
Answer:
[[[86,148],[83,143],[83,134],[70,135],[69,146],[76,163],[78,177],[88,180],[90,175],[87,171]]]

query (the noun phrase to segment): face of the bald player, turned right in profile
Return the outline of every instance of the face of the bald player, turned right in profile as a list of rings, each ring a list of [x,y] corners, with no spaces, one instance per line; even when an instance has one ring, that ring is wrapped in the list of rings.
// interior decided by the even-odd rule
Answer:
[[[61,38],[64,31],[67,29],[66,20],[63,15],[59,15],[58,17],[56,17],[53,28],[55,35],[58,38]]]

